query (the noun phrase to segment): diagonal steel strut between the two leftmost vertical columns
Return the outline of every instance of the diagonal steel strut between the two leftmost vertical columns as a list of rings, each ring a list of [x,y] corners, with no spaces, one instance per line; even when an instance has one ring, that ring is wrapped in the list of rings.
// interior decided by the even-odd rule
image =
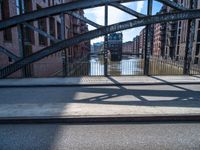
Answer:
[[[23,25],[26,26],[26,27],[28,27],[29,29],[31,29],[33,31],[38,32],[40,35],[43,35],[46,38],[50,38],[54,42],[59,42],[60,41],[60,40],[56,39],[55,37],[53,37],[52,35],[46,33],[45,31],[42,31],[41,29],[36,28],[36,27],[30,25],[29,23],[24,22]]]

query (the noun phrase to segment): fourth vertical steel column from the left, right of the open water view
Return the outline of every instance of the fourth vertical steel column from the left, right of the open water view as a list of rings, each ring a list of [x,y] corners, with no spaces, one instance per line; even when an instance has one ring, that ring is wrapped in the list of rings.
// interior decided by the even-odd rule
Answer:
[[[147,15],[152,15],[153,0],[148,0]],[[144,75],[149,75],[149,63],[151,55],[151,25],[146,26],[145,35]]]

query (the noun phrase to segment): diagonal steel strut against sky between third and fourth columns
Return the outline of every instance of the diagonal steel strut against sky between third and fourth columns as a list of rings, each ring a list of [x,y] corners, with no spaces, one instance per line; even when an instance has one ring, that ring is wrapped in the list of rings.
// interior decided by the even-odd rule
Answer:
[[[137,11],[134,11],[124,5],[121,5],[120,3],[110,3],[109,5],[113,6],[113,7],[116,7],[132,16],[135,16],[137,18],[142,18],[142,17],[145,17],[146,15],[144,14],[141,14],[141,13],[138,13]]]

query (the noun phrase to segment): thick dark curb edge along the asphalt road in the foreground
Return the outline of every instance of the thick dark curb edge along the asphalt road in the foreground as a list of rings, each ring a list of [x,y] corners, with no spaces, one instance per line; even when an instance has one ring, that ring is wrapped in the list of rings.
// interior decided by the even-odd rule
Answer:
[[[200,122],[200,115],[181,116],[94,116],[94,117],[16,117],[0,118],[0,124],[81,124],[81,123]]]

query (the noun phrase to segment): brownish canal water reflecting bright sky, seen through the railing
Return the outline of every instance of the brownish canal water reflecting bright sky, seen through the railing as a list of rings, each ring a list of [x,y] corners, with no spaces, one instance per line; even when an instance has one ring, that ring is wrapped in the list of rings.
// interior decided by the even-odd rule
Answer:
[[[123,56],[122,61],[110,61],[108,59],[109,75],[142,75],[143,60],[134,56]],[[102,55],[91,56],[90,75],[104,75],[104,61]]]

